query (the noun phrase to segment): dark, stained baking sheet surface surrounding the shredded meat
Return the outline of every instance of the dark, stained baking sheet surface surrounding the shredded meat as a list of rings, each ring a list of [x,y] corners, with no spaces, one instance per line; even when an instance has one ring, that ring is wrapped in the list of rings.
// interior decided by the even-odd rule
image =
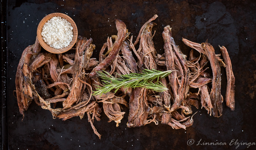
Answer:
[[[1,6],[4,9],[6,2],[3,1]],[[161,123],[127,128],[127,108],[121,124],[116,127],[115,122],[108,123],[107,116],[101,113],[101,121],[94,122],[97,131],[102,134],[101,139],[93,133],[87,117],[82,120],[73,117],[67,121],[52,119],[50,111],[43,110],[34,102],[21,121],[22,115],[13,96],[20,56],[28,45],[34,44],[40,20],[54,12],[70,16],[76,22],[78,34],[93,39],[96,45],[93,57],[97,59],[107,37],[117,33],[115,18],[123,20],[128,31],[137,37],[141,26],[157,14],[159,17],[154,21],[157,25],[153,28],[153,31],[156,30],[153,41],[159,54],[164,52],[161,33],[166,25],[171,25],[174,40],[184,54],[188,55],[191,48],[182,42],[182,37],[197,43],[208,39],[216,54],[220,53],[219,45],[226,46],[236,77],[235,111],[230,111],[225,102],[220,118],[209,116],[204,108],[199,109],[193,117],[194,124],[187,130],[175,130]],[[232,139],[237,139],[239,143],[256,142],[254,1],[8,0],[6,18],[5,12],[2,12],[1,19],[7,19],[7,24],[1,24],[3,149],[246,149],[244,145],[236,148],[229,143]],[[227,79],[225,69],[221,69],[221,93],[225,96]],[[196,111],[193,107],[193,113]],[[195,140],[192,146],[187,145],[189,139]],[[200,139],[201,143],[226,142],[227,145],[196,146]],[[256,149],[256,145],[248,149]]]

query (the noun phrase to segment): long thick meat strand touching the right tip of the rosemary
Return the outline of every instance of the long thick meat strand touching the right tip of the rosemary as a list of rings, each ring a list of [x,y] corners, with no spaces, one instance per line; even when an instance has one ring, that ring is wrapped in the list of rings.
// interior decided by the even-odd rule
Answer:
[[[167,70],[177,70],[168,75],[174,95],[174,104],[171,106],[170,111],[174,111],[179,108],[188,93],[189,69],[185,59],[187,56],[181,53],[179,46],[175,45],[169,25],[164,27],[162,35]],[[179,79],[178,76],[181,78]]]

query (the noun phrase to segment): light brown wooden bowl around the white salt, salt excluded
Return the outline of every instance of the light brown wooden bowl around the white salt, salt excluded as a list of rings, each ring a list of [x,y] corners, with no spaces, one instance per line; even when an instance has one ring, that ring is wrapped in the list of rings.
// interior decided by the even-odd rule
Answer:
[[[72,25],[73,27],[73,39],[72,41],[70,42],[70,44],[67,46],[67,47],[64,47],[64,48],[61,48],[61,49],[55,49],[51,46],[49,46],[48,44],[46,44],[44,42],[44,40],[42,39],[42,30],[43,30],[43,26],[44,24],[50,20],[52,17],[61,17],[61,18],[64,18],[66,20],[68,20],[68,22],[70,22],[70,24]],[[48,52],[51,52],[51,53],[54,53],[54,54],[60,54],[60,53],[64,53],[64,52],[67,52],[68,50],[70,50],[70,48],[72,48],[75,43],[76,43],[76,39],[77,39],[77,27],[76,27],[76,24],[75,22],[67,15],[63,14],[63,13],[52,13],[52,14],[49,14],[47,16],[45,16],[39,23],[38,27],[37,27],[37,38],[38,38],[38,41],[39,43],[41,44],[41,46]]]

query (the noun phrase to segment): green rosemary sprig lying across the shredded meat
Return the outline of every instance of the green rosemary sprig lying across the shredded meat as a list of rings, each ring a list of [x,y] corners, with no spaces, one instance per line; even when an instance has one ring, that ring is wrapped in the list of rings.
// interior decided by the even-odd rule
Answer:
[[[115,78],[108,74],[108,72],[97,72],[100,75],[100,78],[103,82],[105,82],[103,87],[98,86],[99,88],[97,91],[94,91],[93,95],[102,95],[103,93],[110,92],[112,89],[117,90],[121,87],[123,88],[136,88],[136,87],[143,87],[147,89],[152,89],[157,92],[162,92],[168,90],[163,83],[159,82],[159,78],[164,78],[169,75],[173,70],[167,71],[158,71],[155,69],[148,70],[145,69],[142,71],[142,74],[131,73],[127,75],[118,75],[119,78]],[[156,82],[153,82],[156,79]]]

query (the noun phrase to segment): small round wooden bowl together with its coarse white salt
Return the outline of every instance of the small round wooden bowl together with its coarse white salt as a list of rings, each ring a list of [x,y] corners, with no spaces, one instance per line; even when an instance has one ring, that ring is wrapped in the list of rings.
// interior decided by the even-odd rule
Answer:
[[[46,51],[54,54],[64,53],[75,45],[77,27],[68,15],[52,13],[40,21],[37,38]]]

